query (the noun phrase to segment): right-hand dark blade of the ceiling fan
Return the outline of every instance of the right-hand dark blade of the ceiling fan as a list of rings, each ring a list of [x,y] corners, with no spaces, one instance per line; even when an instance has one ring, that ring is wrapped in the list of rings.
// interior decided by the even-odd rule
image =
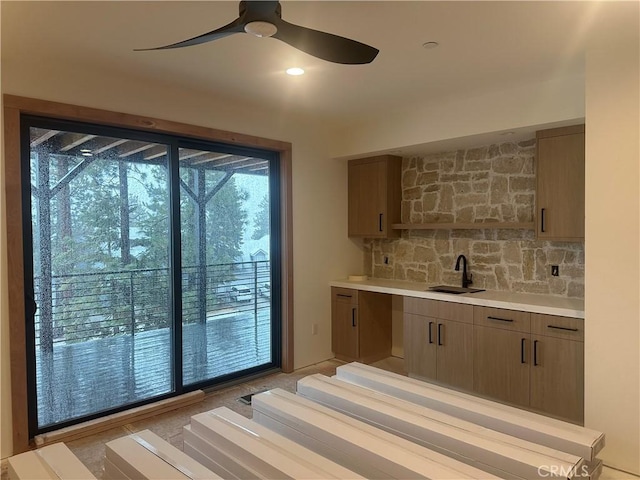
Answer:
[[[294,25],[278,18],[273,35],[292,47],[333,63],[360,65],[371,63],[379,50],[349,38]]]

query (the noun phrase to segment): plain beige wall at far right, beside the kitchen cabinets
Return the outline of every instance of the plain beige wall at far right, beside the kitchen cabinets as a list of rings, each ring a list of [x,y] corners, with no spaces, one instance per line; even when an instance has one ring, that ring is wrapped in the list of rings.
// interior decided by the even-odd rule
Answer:
[[[609,31],[587,53],[585,423],[607,465],[640,474],[640,38]],[[612,214],[613,212],[613,214]]]

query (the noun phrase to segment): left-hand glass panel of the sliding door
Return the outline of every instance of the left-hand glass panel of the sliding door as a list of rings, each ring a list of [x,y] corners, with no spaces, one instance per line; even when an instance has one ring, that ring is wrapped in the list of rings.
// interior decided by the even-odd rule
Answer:
[[[169,175],[166,145],[33,126],[29,140],[39,432],[174,390]]]

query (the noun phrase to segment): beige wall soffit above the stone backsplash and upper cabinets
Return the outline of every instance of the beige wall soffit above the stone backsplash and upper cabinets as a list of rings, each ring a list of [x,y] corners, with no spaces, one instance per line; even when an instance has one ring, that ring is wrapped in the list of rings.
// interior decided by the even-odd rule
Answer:
[[[411,110],[381,112],[380,117],[354,125],[349,135],[336,138],[331,155],[348,158],[401,147],[430,147],[434,142],[457,138],[467,142],[466,147],[484,145],[481,136],[489,132],[568,120],[580,123],[582,118],[584,77],[558,78],[480,96],[416,104]],[[470,136],[480,138],[468,143]],[[464,148],[456,141],[447,141],[446,145],[429,151]]]

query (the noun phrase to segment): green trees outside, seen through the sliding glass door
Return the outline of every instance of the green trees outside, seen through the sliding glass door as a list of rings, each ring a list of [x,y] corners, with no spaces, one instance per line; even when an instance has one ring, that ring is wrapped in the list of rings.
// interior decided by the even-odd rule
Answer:
[[[63,165],[56,163],[62,160]],[[37,161],[32,160],[32,170]],[[49,201],[49,251],[44,250],[47,242],[41,245],[41,239],[37,238],[41,228],[38,211],[42,205],[38,206],[40,200],[32,197],[34,263],[38,272],[41,262],[51,262],[54,327],[64,332],[65,341],[73,342],[127,333],[133,327],[167,326],[171,312],[171,241],[166,166],[127,163],[125,188],[119,176],[121,160],[116,156],[103,155],[87,161],[83,157],[60,159],[50,154],[43,155],[41,161],[50,162],[52,185],[73,168],[82,169]],[[184,272],[195,271],[201,250],[206,250],[207,265],[237,261],[242,254],[247,224],[243,208],[247,193],[237,187],[233,177],[226,178],[224,172],[206,171],[204,191],[198,192],[197,175],[193,169],[181,169],[182,181],[199,195],[200,204],[204,205],[205,218],[201,242],[198,202],[181,189]],[[33,182],[36,183],[36,178]],[[205,205],[202,199],[218,188]],[[123,232],[127,223],[129,231]],[[123,255],[123,246],[128,249],[128,255]],[[123,258],[131,258],[131,262],[123,264]],[[207,302],[215,300],[215,284],[233,275],[231,267],[218,270],[213,285],[207,285]],[[185,286],[183,294],[188,293],[187,290]],[[202,301],[197,300],[196,295],[193,299]]]

